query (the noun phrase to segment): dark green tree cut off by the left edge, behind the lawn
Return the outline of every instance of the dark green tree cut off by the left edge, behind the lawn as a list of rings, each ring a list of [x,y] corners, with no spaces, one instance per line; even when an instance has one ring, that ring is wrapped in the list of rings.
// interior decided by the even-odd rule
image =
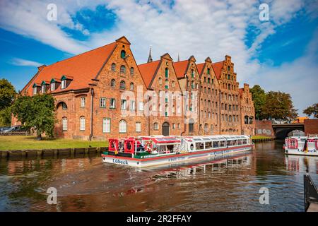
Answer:
[[[0,79],[0,110],[10,107],[15,96],[13,85],[5,78]]]

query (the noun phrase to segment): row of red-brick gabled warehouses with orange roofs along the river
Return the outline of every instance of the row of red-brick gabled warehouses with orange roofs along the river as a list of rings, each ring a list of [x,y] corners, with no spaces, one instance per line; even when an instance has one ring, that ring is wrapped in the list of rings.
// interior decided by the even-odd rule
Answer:
[[[196,64],[193,56],[173,62],[169,54],[157,61],[150,55],[137,65],[130,45],[121,37],[40,66],[21,93],[54,96],[58,137],[254,133],[254,123],[243,125],[245,115],[254,119],[252,97],[247,84],[239,91],[229,56]]]

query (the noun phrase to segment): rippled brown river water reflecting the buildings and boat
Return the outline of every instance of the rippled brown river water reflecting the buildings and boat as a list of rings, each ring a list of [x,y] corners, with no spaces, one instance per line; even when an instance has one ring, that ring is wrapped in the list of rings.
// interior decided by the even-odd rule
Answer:
[[[219,159],[136,169],[99,155],[0,160],[1,211],[303,211],[303,175],[318,157],[285,156],[282,141]],[[57,189],[57,205],[47,189]],[[261,204],[262,188],[269,204]]]

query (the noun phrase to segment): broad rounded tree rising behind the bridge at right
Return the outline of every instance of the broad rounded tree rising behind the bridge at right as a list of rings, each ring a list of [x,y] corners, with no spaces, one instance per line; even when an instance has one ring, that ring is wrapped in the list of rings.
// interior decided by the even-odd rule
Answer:
[[[270,91],[262,107],[262,117],[265,119],[295,119],[298,117],[293,101],[288,93]]]

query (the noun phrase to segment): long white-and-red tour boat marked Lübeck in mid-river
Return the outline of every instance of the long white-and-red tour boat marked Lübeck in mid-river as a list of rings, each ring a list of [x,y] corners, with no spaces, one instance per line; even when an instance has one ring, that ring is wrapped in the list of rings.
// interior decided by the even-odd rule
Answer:
[[[251,150],[249,136],[139,136],[110,138],[102,161],[149,167]]]

